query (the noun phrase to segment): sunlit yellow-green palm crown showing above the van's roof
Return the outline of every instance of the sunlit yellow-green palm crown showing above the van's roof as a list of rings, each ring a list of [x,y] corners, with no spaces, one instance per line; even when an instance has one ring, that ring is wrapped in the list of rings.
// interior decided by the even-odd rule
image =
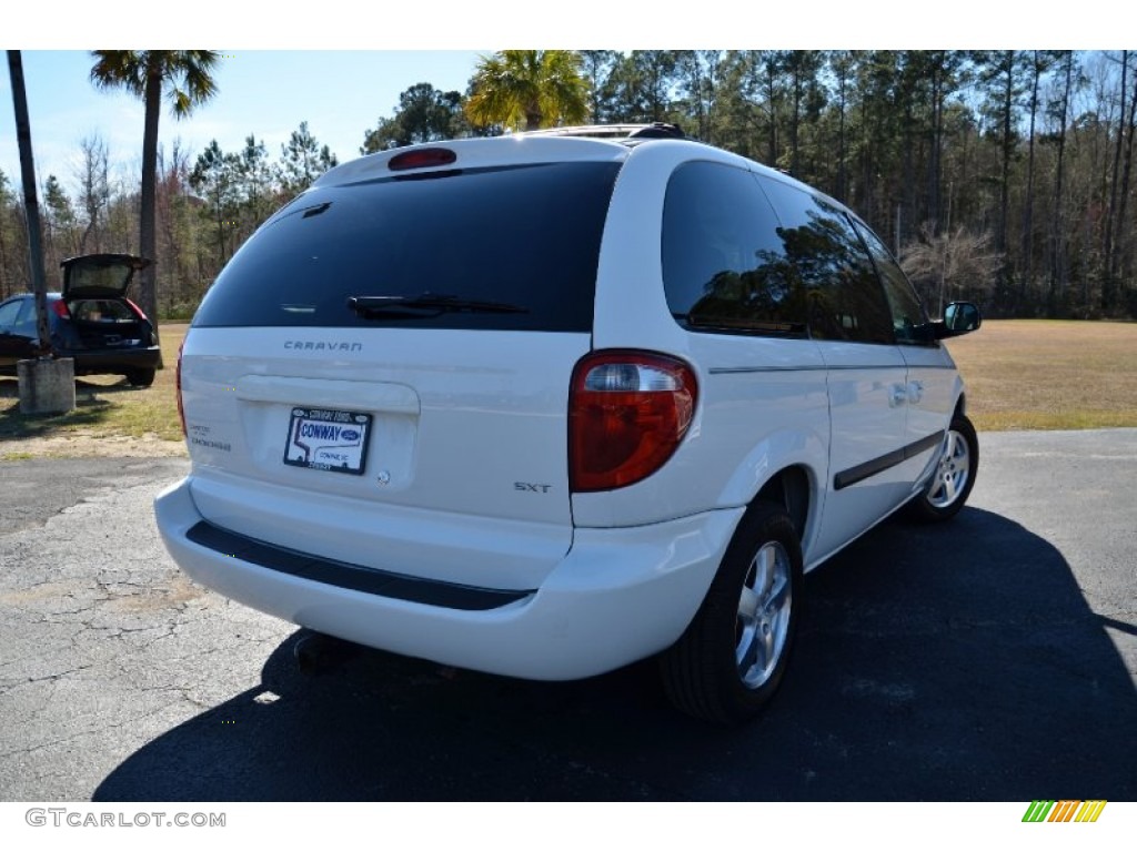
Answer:
[[[503,50],[482,57],[466,116],[475,125],[536,131],[588,117],[588,83],[573,50]]]

